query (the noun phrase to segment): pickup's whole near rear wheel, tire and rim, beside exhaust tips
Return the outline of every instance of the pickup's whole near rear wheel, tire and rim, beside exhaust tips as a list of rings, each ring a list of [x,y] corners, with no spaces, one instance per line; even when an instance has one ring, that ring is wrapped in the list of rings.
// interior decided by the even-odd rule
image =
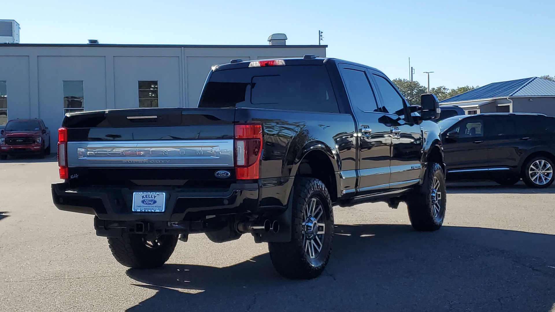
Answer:
[[[330,259],[334,229],[330,194],[324,183],[295,178],[291,209],[291,241],[268,243],[272,264],[287,278],[315,278]]]

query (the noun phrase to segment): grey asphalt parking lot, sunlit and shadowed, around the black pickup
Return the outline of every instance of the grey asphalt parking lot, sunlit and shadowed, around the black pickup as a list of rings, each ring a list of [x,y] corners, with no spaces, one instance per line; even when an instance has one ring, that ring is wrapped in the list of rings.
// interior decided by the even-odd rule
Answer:
[[[332,257],[314,280],[275,273],[250,235],[179,242],[162,268],[130,270],[60,212],[49,159],[0,162],[1,311],[555,311],[555,187],[450,183],[444,227],[406,207],[335,208]]]

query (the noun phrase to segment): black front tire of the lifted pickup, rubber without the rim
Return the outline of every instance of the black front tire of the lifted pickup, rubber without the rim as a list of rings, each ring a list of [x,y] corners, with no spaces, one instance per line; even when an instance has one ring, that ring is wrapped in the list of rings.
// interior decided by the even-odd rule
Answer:
[[[434,188],[433,185],[435,178],[439,182],[437,188]],[[440,209],[437,215],[434,213],[433,189],[441,192],[441,199],[438,200]],[[422,185],[416,188],[407,198],[408,218],[411,220],[412,227],[418,231],[440,229],[443,219],[445,219],[446,204],[447,196],[443,169],[438,163],[428,163]]]

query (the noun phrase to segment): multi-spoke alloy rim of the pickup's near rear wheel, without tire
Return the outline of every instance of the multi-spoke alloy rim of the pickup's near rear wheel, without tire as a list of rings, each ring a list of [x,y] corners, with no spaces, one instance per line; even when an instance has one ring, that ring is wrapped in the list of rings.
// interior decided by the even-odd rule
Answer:
[[[324,246],[324,234],[326,232],[325,213],[322,203],[317,198],[311,198],[306,205],[302,223],[302,245],[305,254],[310,259],[315,259]]]

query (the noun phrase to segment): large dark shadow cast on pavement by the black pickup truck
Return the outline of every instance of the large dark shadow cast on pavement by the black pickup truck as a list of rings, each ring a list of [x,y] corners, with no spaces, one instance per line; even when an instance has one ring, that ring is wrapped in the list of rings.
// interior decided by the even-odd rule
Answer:
[[[225,268],[129,269],[157,293],[127,311],[549,311],[555,302],[555,235],[391,224],[335,233],[313,280],[282,278],[267,253]]]

